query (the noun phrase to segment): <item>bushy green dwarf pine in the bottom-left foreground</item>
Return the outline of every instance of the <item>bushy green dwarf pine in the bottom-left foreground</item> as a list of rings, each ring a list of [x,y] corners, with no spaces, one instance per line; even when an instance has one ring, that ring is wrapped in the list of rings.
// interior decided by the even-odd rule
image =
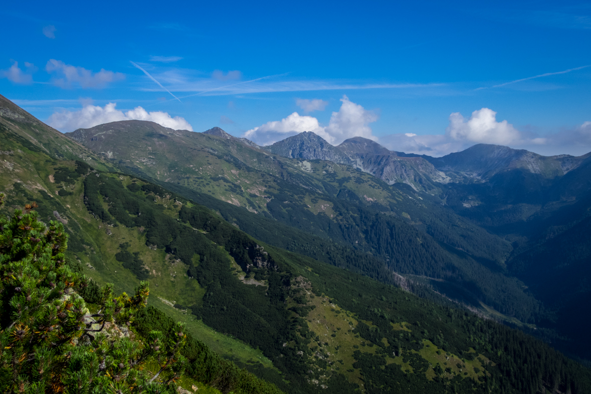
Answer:
[[[280,393],[187,335],[184,324],[143,310],[147,282],[132,297],[115,297],[112,285],[99,288],[76,264],[70,269],[63,225],[47,227],[35,208],[0,218],[3,392],[173,393],[186,373],[224,393]]]

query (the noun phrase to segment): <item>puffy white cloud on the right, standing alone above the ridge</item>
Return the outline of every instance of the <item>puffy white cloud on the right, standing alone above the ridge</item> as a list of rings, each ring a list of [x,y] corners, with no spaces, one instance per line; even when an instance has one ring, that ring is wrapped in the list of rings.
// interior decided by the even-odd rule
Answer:
[[[521,139],[512,124],[506,120],[496,122],[496,112],[488,108],[474,111],[468,120],[459,112],[452,113],[446,134],[454,140],[496,145],[509,145]]]

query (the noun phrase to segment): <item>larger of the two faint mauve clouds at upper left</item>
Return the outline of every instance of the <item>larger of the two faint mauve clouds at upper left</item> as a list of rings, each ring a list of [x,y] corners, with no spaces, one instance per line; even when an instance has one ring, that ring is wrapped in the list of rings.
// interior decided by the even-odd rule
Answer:
[[[80,86],[82,88],[102,88],[106,84],[119,81],[125,78],[124,74],[113,73],[101,68],[98,73],[93,73],[83,67],[76,67],[66,64],[61,60],[50,59],[45,67],[50,74],[55,74],[53,84],[61,88],[72,88]]]

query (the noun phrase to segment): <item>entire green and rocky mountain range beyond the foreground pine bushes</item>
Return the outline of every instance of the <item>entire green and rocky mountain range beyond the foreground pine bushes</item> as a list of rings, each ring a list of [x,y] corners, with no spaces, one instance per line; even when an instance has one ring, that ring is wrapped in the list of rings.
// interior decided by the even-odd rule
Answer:
[[[152,306],[285,392],[591,390],[526,334],[589,359],[587,156],[259,147],[135,120],[64,135],[1,96],[0,133],[9,209],[37,201],[82,272],[149,280]]]

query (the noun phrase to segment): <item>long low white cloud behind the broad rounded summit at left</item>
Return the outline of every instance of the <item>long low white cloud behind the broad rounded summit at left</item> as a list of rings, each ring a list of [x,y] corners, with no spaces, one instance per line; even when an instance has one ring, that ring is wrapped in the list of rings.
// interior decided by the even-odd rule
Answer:
[[[115,108],[116,103],[106,104],[104,107],[87,104],[79,111],[61,111],[51,114],[47,124],[61,132],[71,132],[76,129],[87,129],[98,124],[118,122],[119,120],[150,120],[164,127],[175,130],[190,130],[193,127],[183,117],[171,117],[162,111],[148,112],[142,107],[135,107],[127,112]]]

